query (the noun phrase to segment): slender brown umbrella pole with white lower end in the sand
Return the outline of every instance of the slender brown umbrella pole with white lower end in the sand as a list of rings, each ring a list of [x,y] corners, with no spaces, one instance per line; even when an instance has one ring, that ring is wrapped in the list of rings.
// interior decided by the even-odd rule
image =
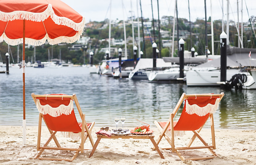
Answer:
[[[25,20],[23,20],[23,52],[22,52],[22,74],[23,74],[23,144],[26,144],[26,114],[25,114]]]

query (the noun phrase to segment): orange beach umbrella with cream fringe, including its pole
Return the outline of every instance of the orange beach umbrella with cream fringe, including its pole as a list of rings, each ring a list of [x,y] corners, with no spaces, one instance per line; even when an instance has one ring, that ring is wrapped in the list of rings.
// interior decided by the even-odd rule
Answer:
[[[0,0],[0,42],[23,44],[23,144],[26,144],[25,44],[73,43],[85,18],[60,0]]]

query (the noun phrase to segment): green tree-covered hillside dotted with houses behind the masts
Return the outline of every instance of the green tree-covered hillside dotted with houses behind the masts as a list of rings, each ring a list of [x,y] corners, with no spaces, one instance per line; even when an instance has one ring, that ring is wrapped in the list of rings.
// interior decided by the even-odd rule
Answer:
[[[170,35],[172,34],[172,28],[173,24],[171,23],[173,21],[172,16],[164,16],[162,19],[167,20],[166,25],[161,25],[161,29],[167,30],[170,32]],[[256,20],[255,16],[252,16],[251,19],[253,21]],[[146,19],[149,21],[149,19]],[[176,21],[176,20],[175,20]],[[99,50],[103,47],[108,47],[108,41],[102,41],[102,39],[108,39],[108,30],[109,28],[102,28],[103,25],[107,21],[101,21],[101,22],[92,22],[93,26],[92,28],[86,28],[84,32],[84,36],[89,36],[91,38],[90,44],[91,44],[91,51],[94,51],[94,56],[93,56],[93,62],[94,63],[99,63],[101,60],[104,59],[105,53],[99,52]],[[124,39],[124,28],[122,26],[122,22],[120,21],[119,23],[121,26],[114,26],[112,25],[111,27],[111,38],[115,39]],[[155,20],[155,22],[157,22]],[[188,22],[187,19],[179,18],[179,30],[188,30],[190,31],[189,25],[186,26],[184,22]],[[211,22],[211,17],[208,18],[208,22]],[[187,39],[185,40],[185,50],[191,49],[191,47],[195,48],[195,51],[200,55],[200,54],[205,54],[205,45],[206,45],[206,37],[205,37],[205,20],[197,18],[196,21],[192,24],[196,24],[198,26],[194,27],[191,29],[192,33],[192,45],[190,41],[190,36],[187,36]],[[156,25],[156,24],[155,24]],[[176,28],[177,26],[175,26]],[[250,25],[249,25],[250,27]],[[145,36],[148,36],[147,34],[147,28],[144,27],[144,34]],[[213,22],[213,30],[214,30],[214,41],[219,41],[219,35],[222,32],[222,20],[215,20]],[[240,29],[241,30],[241,29]],[[138,34],[138,29],[137,27],[134,27],[134,35],[137,36]],[[153,35],[153,32],[151,32]],[[207,34],[211,34],[211,25],[207,25]],[[241,34],[241,32],[240,32]],[[157,43],[157,48],[159,49],[159,41],[158,41],[158,29],[155,31],[156,35],[156,43]],[[230,31],[229,31],[229,41],[231,46],[238,46],[238,37],[236,28],[234,26],[230,26]],[[244,31],[243,33],[243,46],[244,47],[249,47],[249,48],[255,48],[255,37],[253,36],[252,30],[247,30]],[[126,36],[132,36],[132,25],[129,24],[126,26]],[[142,37],[142,29],[140,28],[140,37]],[[151,36],[152,37],[152,36]],[[166,39],[171,39],[166,38]],[[154,42],[154,38],[152,37],[152,41]],[[177,42],[177,41],[175,41]],[[220,45],[219,42],[214,42],[214,50],[212,50],[211,47],[211,36],[207,37],[207,42],[208,42],[208,49],[210,52],[214,51],[214,54],[220,54]],[[130,41],[127,44],[127,50],[130,52],[128,54],[128,58],[133,58],[133,46],[132,46],[132,41]],[[137,41],[135,41],[137,45]],[[49,45],[49,44],[44,44],[42,46],[36,47],[36,60],[41,60],[41,61],[48,61],[48,49],[50,52],[50,57],[53,56],[53,58],[60,58],[60,50],[61,50],[61,59],[65,60],[65,62],[72,61],[74,64],[83,64],[84,60],[85,63],[89,62],[89,49],[85,52],[85,56],[83,53],[83,50],[78,50],[78,51],[69,51],[68,47],[72,47],[73,44],[66,44],[66,45]],[[87,45],[89,47],[89,45]],[[114,46],[111,46],[114,47]],[[149,39],[145,40],[145,45],[143,44],[143,41],[140,43],[141,50],[144,52],[144,47],[146,47],[146,51],[143,54],[143,58],[152,58],[153,56],[153,51],[152,51],[152,43]],[[175,54],[174,56],[177,56],[177,43],[175,44]],[[124,45],[121,46],[116,46],[116,48],[122,48],[124,49]],[[168,57],[170,55],[170,48],[166,47],[161,47],[161,56],[162,57]],[[14,63],[17,63],[17,46],[10,46],[10,50],[13,55]],[[1,53],[1,58],[2,61],[5,63],[5,54],[8,52],[8,45],[5,42],[0,43],[0,53]],[[53,52],[53,54],[52,54]],[[118,54],[111,54],[111,56],[118,57]],[[25,61],[31,61],[31,59],[34,59],[34,48],[25,48]],[[22,61],[22,44],[19,46],[19,61]],[[10,62],[12,63],[12,57],[10,56]]]

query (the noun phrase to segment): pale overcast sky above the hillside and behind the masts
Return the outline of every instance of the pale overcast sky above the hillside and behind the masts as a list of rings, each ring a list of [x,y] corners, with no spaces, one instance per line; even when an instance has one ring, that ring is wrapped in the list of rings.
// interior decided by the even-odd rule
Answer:
[[[104,21],[105,18],[111,18],[111,20],[127,20],[128,17],[133,16],[138,17],[137,11],[137,1],[139,0],[62,0],[78,13],[85,17],[86,23],[89,21]],[[178,17],[187,18],[189,20],[189,10],[188,1],[190,6],[190,18],[191,21],[195,21],[197,18],[204,19],[204,0],[178,0]],[[206,0],[206,10],[207,19],[211,16],[211,2],[212,2],[212,19],[219,20],[222,19],[222,1],[223,1],[223,12],[224,20],[226,21],[227,13],[227,0]],[[111,5],[111,15],[110,15],[110,2]],[[124,4],[124,7],[122,5]],[[132,2],[132,7],[131,7]],[[242,4],[243,2],[243,4]],[[255,0],[238,0],[238,10],[239,10],[239,22],[247,22],[249,17],[246,10],[246,5],[250,16],[256,16],[256,2]],[[162,16],[174,16],[175,13],[175,0],[158,0],[159,3],[159,17]],[[153,17],[158,19],[158,8],[157,0],[152,0],[153,4]],[[140,4],[139,7],[139,17]],[[151,0],[141,0],[142,13],[144,18],[152,19],[152,7]],[[243,10],[242,10],[243,8]],[[243,11],[243,18],[241,18],[241,10]],[[130,12],[133,11],[133,12]],[[229,19],[237,21],[237,0],[230,0],[229,8]]]

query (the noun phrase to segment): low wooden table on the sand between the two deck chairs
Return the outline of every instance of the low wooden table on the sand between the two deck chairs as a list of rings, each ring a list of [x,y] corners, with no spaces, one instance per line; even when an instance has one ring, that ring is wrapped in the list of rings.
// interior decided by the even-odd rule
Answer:
[[[106,137],[104,135],[97,135],[97,141],[95,142],[93,149],[89,155],[89,158],[91,156],[93,156],[94,151],[96,150],[99,142],[101,139],[150,139],[150,141],[153,143],[156,151],[158,152],[158,154],[160,155],[161,158],[164,159],[163,154],[161,153],[160,149],[158,148],[158,145],[156,144],[156,141],[154,140],[154,135],[150,134],[150,135],[133,135],[133,134],[129,134],[129,135],[123,135],[123,136],[119,136],[119,135],[111,135],[111,137]]]

